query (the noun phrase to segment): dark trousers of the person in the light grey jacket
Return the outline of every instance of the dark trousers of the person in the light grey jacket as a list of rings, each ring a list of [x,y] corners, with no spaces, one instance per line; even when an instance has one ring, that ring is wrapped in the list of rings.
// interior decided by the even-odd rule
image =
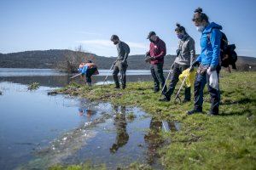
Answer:
[[[178,82],[179,75],[182,74],[182,72],[188,68],[189,68],[189,65],[179,65],[177,63],[174,63],[171,82],[170,82],[168,91],[165,94],[166,98],[168,98],[168,99],[171,98],[171,95],[173,94],[176,84]],[[191,91],[190,87],[185,88],[185,99],[187,99],[187,100],[190,100],[190,98],[191,98],[190,91]]]

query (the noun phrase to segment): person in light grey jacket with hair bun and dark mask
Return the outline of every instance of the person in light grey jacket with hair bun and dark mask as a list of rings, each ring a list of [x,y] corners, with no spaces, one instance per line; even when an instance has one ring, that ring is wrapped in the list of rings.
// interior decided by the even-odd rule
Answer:
[[[172,65],[172,77],[171,82],[166,91],[165,98],[160,99],[160,101],[170,101],[171,96],[174,92],[175,86],[178,82],[178,77],[182,72],[192,65],[195,60],[195,41],[192,37],[189,37],[189,34],[185,30],[185,28],[179,24],[176,25],[175,32],[177,34],[177,38],[179,39],[178,47],[177,47],[177,57],[174,60]],[[185,98],[183,102],[190,101],[190,87],[185,88]]]

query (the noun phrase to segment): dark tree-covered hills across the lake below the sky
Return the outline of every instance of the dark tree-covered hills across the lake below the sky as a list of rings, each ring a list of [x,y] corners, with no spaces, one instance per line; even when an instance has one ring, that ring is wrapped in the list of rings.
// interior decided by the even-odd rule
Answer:
[[[74,54],[75,52],[67,49],[50,49],[44,51],[25,51],[11,54],[0,54],[0,67],[3,68],[50,68],[55,69],[57,62],[65,59],[65,54]],[[114,57],[102,57],[96,54],[84,53],[84,56],[93,56],[94,62],[100,69],[109,69],[110,65],[116,59]],[[174,61],[174,55],[166,55],[165,69],[169,69]],[[128,59],[129,69],[148,69],[149,65],[144,62],[143,55],[131,55]],[[241,56],[238,58],[237,67],[239,70],[256,71],[256,58]]]

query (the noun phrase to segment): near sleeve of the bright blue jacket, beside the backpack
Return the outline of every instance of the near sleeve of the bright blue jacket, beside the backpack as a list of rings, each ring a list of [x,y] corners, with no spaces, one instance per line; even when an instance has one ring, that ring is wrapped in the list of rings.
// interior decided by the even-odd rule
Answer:
[[[212,29],[210,39],[212,44],[212,62],[210,66],[216,67],[218,65],[220,55],[221,31],[218,29]]]

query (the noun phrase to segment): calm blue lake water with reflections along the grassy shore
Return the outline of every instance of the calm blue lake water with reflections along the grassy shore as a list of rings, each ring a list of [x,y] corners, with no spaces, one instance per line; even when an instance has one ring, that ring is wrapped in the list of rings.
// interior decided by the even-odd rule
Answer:
[[[93,83],[101,84],[106,75],[112,83],[108,71],[100,71]],[[128,82],[151,80],[149,71],[127,75]],[[161,169],[155,150],[166,141],[159,133],[178,130],[179,123],[157,120],[137,107],[47,95],[67,85],[71,76],[49,69],[0,69],[0,169],[84,161],[104,163],[108,169],[138,161]],[[32,82],[40,88],[27,90]]]

